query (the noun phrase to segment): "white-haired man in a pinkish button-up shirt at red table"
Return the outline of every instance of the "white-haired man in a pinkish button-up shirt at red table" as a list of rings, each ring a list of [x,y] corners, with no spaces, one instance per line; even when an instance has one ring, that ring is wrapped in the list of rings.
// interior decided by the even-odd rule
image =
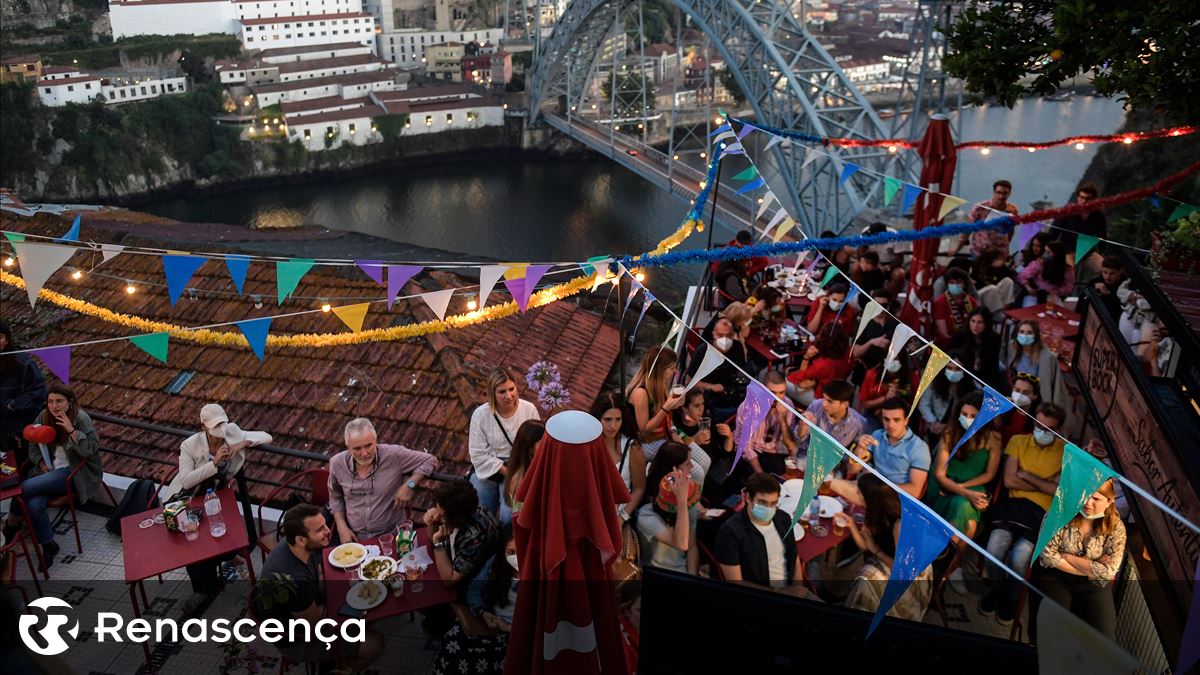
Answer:
[[[352,419],[346,425],[346,449],[329,460],[329,510],[341,542],[396,527],[416,482],[437,467],[438,458],[430,453],[378,443],[370,419]]]

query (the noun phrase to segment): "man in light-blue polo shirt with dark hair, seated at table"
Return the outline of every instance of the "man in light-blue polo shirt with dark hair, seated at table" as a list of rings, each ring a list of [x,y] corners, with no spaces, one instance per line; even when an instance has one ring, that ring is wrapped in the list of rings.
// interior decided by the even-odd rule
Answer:
[[[931,461],[929,446],[908,429],[908,404],[899,398],[883,401],[880,420],[883,429],[860,436],[854,454],[869,461],[901,490],[922,498],[929,483]],[[859,465],[851,462],[847,478],[853,478],[859,471]],[[847,500],[862,503],[863,496],[854,483],[835,480],[830,486]]]

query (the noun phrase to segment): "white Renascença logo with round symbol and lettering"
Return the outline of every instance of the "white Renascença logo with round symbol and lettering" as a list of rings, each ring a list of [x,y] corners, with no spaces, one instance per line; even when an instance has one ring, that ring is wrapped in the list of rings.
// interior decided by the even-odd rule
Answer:
[[[40,609],[38,614],[24,614],[18,622],[20,639],[30,650],[43,656],[55,656],[67,651],[66,640],[62,639],[62,627],[70,623],[66,633],[72,639],[79,637],[79,622],[62,613],[49,613],[50,608],[73,609],[70,604],[59,598],[37,598],[29,603],[32,609]],[[38,627],[42,622],[42,614],[46,616],[46,626]],[[284,638],[289,643],[310,643],[314,638],[330,649],[338,639],[346,643],[366,641],[367,623],[362,619],[348,619],[338,622],[334,619],[322,619],[316,622],[302,619],[292,619],[287,622],[277,619],[266,619],[257,622],[253,619],[188,619],[182,623],[174,619],[157,619],[151,623],[145,619],[125,621],[115,611],[101,611],[96,614],[96,639],[100,643],[112,640],[114,643],[131,641],[145,643],[151,635],[156,641],[179,641],[182,637],[192,643],[228,643],[230,639],[239,643],[252,643],[262,639],[266,643],[277,643]],[[122,635],[124,633],[124,635]]]

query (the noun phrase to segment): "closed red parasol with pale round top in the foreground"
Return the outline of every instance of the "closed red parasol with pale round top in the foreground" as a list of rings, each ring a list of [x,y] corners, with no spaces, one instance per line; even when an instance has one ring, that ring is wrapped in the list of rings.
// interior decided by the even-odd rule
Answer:
[[[521,480],[512,521],[521,584],[506,675],[623,675],[611,567],[620,552],[617,504],[630,500],[592,416],[546,423]]]

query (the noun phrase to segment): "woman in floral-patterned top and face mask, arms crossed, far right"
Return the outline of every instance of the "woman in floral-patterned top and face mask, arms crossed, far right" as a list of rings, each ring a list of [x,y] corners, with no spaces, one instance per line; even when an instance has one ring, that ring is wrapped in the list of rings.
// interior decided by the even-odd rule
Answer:
[[[1116,639],[1117,614],[1109,587],[1124,557],[1126,530],[1117,515],[1116,486],[1109,479],[1079,515],[1060,530],[1033,565],[1030,580],[1045,597]],[[1030,593],[1030,637],[1037,640],[1038,605]]]

